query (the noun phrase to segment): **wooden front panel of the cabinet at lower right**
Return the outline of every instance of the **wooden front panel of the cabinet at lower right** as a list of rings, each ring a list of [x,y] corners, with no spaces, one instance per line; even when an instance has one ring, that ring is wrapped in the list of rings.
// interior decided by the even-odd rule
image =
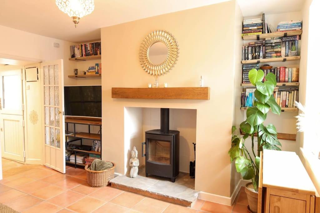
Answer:
[[[306,201],[270,195],[270,213],[306,213]]]

